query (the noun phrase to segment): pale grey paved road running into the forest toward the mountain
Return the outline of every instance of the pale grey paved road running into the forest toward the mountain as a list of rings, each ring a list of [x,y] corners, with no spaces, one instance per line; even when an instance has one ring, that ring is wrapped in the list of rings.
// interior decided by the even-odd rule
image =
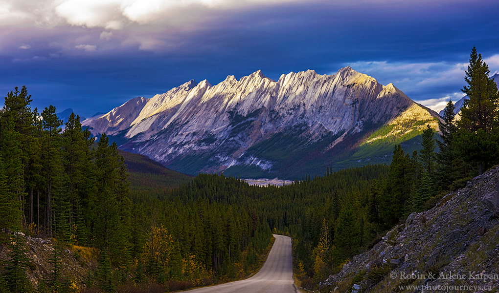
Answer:
[[[249,279],[204,287],[188,293],[294,293],[291,238],[274,235],[275,242],[267,261]]]

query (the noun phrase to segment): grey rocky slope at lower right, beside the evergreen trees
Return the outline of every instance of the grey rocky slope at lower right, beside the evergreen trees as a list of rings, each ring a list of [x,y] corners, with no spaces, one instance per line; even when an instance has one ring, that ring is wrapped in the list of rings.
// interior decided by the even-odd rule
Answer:
[[[434,208],[411,214],[321,286],[349,293],[498,292],[498,219],[496,166]]]

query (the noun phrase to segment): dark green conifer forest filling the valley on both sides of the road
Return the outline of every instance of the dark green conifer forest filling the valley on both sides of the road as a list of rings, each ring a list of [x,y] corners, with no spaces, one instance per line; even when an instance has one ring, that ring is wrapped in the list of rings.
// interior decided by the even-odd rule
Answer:
[[[498,91],[488,74],[474,48],[460,120],[449,102],[440,134],[427,127],[421,150],[397,145],[390,166],[328,168],[282,187],[168,177],[121,153],[127,170],[106,135],[95,140],[75,115],[62,131],[54,107],[31,110],[27,89],[16,88],[0,112],[0,242],[11,247],[0,292],[34,291],[19,232],[61,247],[38,292],[144,292],[152,283],[164,292],[244,278],[261,265],[272,233],[292,237],[295,276],[314,289],[410,213],[498,163]],[[95,248],[99,268],[70,286],[57,254],[75,246]]]

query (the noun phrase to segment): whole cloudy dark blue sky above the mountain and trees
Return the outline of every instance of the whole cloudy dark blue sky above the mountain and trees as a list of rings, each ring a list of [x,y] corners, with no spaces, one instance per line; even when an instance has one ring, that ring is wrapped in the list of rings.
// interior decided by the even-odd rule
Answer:
[[[88,117],[190,79],[350,65],[440,110],[474,45],[499,71],[497,15],[497,0],[3,0],[0,91]]]

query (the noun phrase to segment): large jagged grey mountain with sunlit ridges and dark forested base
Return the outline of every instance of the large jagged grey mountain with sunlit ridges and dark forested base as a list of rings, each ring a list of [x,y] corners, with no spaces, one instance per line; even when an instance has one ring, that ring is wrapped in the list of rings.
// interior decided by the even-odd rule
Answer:
[[[277,81],[259,70],[215,86],[191,80],[82,125],[183,173],[294,179],[330,165],[389,162],[395,144],[417,148],[426,124],[438,127],[437,117],[393,84],[345,67]]]

